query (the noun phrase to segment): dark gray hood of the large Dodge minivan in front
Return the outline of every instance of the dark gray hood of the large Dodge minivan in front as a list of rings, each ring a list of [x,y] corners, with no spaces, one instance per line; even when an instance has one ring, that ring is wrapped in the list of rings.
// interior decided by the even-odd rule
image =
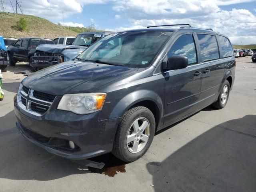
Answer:
[[[56,96],[86,93],[137,70],[138,68],[124,66],[68,61],[29,75],[22,84]]]

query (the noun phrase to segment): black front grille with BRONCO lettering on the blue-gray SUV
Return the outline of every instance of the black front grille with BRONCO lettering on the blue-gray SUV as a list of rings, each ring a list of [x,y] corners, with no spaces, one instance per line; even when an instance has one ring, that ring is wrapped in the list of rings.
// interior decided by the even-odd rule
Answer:
[[[63,62],[62,57],[60,56],[34,56],[31,57],[30,65],[32,67],[45,68],[60,62]]]

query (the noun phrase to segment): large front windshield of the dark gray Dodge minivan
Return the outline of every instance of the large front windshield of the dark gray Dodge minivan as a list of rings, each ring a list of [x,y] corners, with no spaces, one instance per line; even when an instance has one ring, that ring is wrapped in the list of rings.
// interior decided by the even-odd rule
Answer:
[[[171,34],[170,31],[110,34],[82,52],[78,59],[112,65],[147,67]]]

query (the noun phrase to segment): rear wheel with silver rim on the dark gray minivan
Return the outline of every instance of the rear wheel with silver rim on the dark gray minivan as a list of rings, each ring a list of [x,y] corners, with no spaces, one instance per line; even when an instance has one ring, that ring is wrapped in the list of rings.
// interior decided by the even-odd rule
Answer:
[[[224,92],[225,88],[227,88],[226,93]],[[223,85],[222,85],[220,95],[218,96],[218,100],[216,102],[214,102],[212,105],[216,109],[224,108],[226,106],[227,102],[228,102],[229,93],[230,93],[230,84],[229,84],[228,80],[225,80]]]

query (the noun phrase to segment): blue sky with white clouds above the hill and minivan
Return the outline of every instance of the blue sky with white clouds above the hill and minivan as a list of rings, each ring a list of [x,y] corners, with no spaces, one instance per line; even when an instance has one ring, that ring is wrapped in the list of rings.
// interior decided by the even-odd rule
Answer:
[[[12,12],[7,0],[6,10]],[[234,44],[256,44],[256,0],[22,0],[22,10],[65,26],[111,31],[190,23],[226,34]]]

